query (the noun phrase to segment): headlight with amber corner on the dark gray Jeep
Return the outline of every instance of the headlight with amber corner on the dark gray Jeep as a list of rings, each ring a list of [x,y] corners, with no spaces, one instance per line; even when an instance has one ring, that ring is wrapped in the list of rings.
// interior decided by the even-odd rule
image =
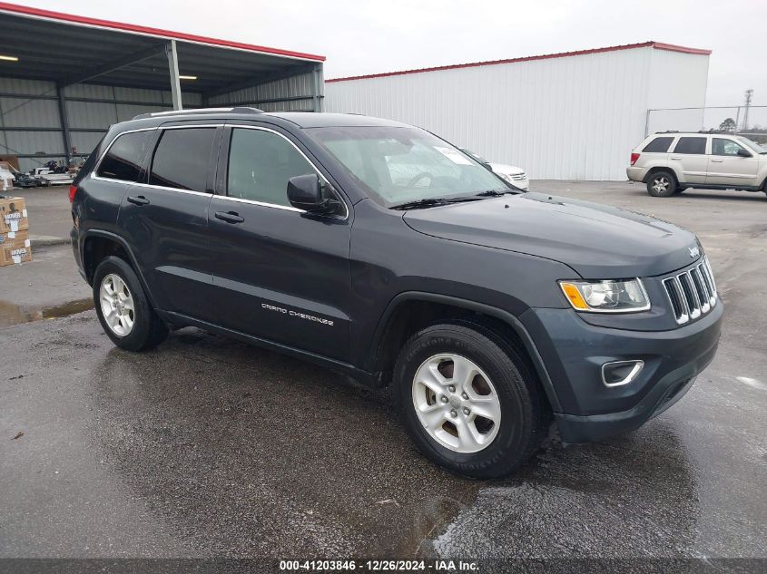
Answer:
[[[627,281],[560,281],[565,297],[576,311],[635,313],[650,308],[642,279]]]

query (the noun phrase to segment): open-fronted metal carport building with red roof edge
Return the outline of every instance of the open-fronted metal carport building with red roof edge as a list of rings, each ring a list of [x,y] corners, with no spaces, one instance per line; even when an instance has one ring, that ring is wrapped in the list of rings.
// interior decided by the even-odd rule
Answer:
[[[323,56],[0,3],[0,155],[87,155],[115,122],[183,107],[320,111]]]

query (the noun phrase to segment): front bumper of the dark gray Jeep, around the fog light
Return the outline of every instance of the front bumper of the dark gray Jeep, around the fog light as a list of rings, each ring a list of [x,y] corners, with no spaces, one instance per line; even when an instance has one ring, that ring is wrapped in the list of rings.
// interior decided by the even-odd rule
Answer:
[[[670,331],[592,326],[570,309],[520,316],[554,384],[562,440],[585,443],[634,430],[682,398],[716,354],[723,307],[719,300],[708,315]],[[602,365],[629,360],[644,361],[636,379],[606,386]]]

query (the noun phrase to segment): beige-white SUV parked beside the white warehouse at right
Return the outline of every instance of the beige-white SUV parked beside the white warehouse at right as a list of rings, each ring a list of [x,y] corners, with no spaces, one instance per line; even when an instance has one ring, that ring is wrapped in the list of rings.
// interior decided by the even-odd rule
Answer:
[[[634,148],[626,174],[655,198],[687,188],[767,193],[767,149],[725,133],[654,133]]]

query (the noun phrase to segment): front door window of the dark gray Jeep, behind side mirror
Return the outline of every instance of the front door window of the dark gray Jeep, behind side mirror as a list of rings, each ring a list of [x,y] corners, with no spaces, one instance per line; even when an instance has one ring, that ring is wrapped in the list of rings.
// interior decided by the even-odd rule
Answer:
[[[309,173],[315,173],[310,162],[282,136],[263,130],[231,132],[229,196],[290,206],[288,180]]]

